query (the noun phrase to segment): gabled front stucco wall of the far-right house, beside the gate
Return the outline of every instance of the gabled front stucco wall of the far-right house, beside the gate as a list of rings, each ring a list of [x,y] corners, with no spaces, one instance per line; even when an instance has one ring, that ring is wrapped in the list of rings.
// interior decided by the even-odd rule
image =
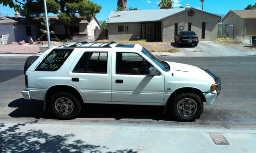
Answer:
[[[245,21],[235,13],[230,12],[223,20],[223,24],[235,24],[234,34],[244,35]]]

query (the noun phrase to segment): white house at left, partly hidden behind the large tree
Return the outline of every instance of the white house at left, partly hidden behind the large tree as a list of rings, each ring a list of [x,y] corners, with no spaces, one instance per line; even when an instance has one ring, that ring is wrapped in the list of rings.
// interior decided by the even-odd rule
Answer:
[[[3,35],[4,44],[10,44],[11,42],[20,42],[25,40],[29,42],[31,37],[33,40],[37,40],[42,32],[42,25],[36,22],[30,22],[24,17],[19,17],[19,13],[15,12],[14,17],[0,16],[0,35]],[[61,24],[57,16],[49,16],[50,31],[54,31],[57,36],[64,36],[64,25]],[[92,18],[90,22],[82,20],[76,26],[69,26],[70,36],[73,39],[88,36],[88,39],[94,39],[95,29],[99,29],[100,22],[96,17]],[[0,44],[2,39],[0,39]]]

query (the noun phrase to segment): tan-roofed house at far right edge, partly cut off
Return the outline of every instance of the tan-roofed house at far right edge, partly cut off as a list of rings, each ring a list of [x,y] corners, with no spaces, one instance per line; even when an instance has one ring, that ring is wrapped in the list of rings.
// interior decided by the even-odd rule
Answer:
[[[235,35],[256,36],[256,10],[230,10],[222,22],[234,24]]]

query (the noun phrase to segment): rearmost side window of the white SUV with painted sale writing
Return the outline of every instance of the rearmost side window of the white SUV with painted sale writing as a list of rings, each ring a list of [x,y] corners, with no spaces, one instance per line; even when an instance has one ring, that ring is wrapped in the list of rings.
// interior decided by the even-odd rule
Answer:
[[[73,48],[53,49],[39,64],[36,71],[57,71],[73,52]]]

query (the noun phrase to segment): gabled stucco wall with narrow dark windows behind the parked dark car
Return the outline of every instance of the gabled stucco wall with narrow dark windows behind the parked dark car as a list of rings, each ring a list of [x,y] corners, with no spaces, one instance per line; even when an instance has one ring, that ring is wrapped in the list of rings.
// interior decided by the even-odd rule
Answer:
[[[188,16],[188,11],[184,11],[162,20],[163,42],[174,40],[175,23],[178,23],[178,32],[187,31],[188,23],[191,23],[191,31],[196,32],[199,40],[217,39],[219,17],[198,10],[192,11],[194,11],[194,16]],[[202,39],[203,22],[206,22],[205,39]]]

